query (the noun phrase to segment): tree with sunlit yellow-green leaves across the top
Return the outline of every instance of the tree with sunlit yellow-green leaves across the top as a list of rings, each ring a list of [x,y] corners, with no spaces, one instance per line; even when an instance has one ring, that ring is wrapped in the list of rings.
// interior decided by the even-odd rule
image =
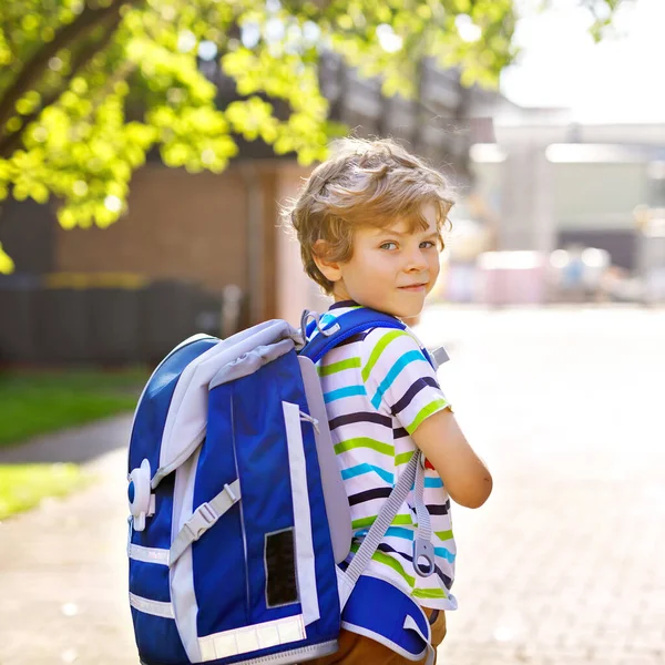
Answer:
[[[491,86],[514,23],[513,0],[2,0],[0,201],[54,196],[63,227],[106,226],[151,150],[221,172],[239,135],[309,164],[336,131],[321,53],[381,76],[388,95],[412,95],[429,57]],[[226,108],[201,68],[215,59],[243,98]]]

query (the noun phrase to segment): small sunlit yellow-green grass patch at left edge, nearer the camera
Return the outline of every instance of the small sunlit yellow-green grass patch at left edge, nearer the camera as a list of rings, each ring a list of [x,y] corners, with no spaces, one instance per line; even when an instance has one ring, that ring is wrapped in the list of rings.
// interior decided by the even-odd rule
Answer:
[[[76,464],[0,464],[0,521],[88,481]]]

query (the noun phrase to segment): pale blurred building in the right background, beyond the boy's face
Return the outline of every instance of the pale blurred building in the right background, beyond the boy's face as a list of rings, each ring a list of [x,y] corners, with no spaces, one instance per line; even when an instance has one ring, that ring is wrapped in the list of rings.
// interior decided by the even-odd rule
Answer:
[[[494,144],[472,146],[471,168],[498,217],[498,248],[596,247],[642,269],[640,215],[665,207],[665,123],[580,125],[563,110],[513,110],[494,127]]]

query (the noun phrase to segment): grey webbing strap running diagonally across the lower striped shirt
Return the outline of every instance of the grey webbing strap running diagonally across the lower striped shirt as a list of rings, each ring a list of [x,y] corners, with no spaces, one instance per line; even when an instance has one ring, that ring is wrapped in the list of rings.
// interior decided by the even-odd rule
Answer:
[[[390,497],[388,497],[386,503],[383,503],[383,507],[381,508],[375,523],[370,526],[367,535],[362,539],[362,543],[354,555],[349,567],[339,576],[339,598],[342,608],[351,595],[354,586],[356,586],[356,582],[358,582],[358,577],[360,577],[360,575],[364,573],[367,564],[370,562],[374,553],[377,551],[377,548],[383,540],[386,531],[388,531],[388,526],[390,526],[392,520],[395,520],[395,515],[397,515],[399,509],[407,500],[407,497],[409,495],[409,492],[416,482],[417,470],[421,466],[421,458],[422,452],[420,450],[413,453],[413,457],[407,464],[407,468],[402,471],[397,484],[392,489],[392,492],[390,492]],[[420,491],[422,495],[422,488]]]

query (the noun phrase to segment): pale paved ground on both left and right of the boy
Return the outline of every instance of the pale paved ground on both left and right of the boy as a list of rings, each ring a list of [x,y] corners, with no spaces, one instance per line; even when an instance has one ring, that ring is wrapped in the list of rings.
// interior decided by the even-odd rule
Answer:
[[[495,488],[453,508],[439,663],[664,664],[665,313],[434,309],[419,331],[452,340],[440,379]],[[0,665],[137,664],[129,422],[98,432],[123,448],[91,462],[93,487],[0,524]]]

